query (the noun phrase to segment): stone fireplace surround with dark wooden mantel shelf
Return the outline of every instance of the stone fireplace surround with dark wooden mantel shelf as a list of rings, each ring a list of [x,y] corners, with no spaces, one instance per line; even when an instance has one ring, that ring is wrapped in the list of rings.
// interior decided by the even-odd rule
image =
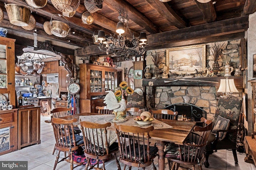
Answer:
[[[215,115],[218,97],[222,94],[216,93],[221,78],[225,77],[197,77],[186,78],[192,81],[175,81],[166,83],[170,79],[143,79],[142,86],[146,89],[146,107],[150,109],[163,109],[168,105],[177,103],[194,104],[206,111],[206,118],[212,120]],[[239,94],[243,90],[243,77],[230,76],[234,78]],[[195,81],[198,80],[198,81]],[[204,82],[209,81],[209,82]]]

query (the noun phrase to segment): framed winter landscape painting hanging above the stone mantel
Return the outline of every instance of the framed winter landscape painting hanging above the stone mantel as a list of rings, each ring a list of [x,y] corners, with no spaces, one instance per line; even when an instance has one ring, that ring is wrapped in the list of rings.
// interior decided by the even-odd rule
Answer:
[[[166,49],[166,66],[176,74],[204,72],[206,68],[206,45],[191,45]]]

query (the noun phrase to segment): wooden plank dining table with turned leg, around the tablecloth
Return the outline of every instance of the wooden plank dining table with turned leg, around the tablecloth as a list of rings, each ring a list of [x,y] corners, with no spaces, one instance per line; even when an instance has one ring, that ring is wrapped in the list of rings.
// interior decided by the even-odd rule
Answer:
[[[69,115],[61,117],[62,119],[71,120],[76,118],[79,120],[79,116],[86,115],[98,115],[98,113],[80,113],[75,115]],[[176,121],[168,119],[158,119],[168,125],[171,125],[173,128],[167,129],[154,129],[150,131],[150,140],[156,143],[158,148],[158,168],[159,170],[164,170],[164,147],[166,143],[172,142],[179,145],[183,145],[188,137],[188,134],[193,130],[193,127],[196,125],[195,121]],[[78,126],[78,122],[73,123],[74,126]]]

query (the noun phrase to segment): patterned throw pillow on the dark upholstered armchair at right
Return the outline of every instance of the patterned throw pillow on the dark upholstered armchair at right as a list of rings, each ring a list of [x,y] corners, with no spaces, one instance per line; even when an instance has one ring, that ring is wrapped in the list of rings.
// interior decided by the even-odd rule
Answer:
[[[212,134],[216,135],[217,130],[227,130],[229,127],[230,119],[225,119],[224,117],[221,117],[218,115],[218,118],[216,120],[216,123],[214,124],[214,127],[212,129]],[[220,141],[226,137],[226,132],[219,132],[219,139]]]

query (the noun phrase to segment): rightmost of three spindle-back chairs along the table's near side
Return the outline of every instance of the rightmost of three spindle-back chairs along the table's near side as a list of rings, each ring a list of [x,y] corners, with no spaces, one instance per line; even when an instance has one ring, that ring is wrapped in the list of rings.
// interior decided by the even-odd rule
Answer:
[[[117,125],[116,123],[114,125],[120,151],[119,161],[124,164],[124,170],[126,165],[129,166],[129,170],[131,170],[132,166],[145,170],[151,164],[153,164],[153,169],[156,170],[153,159],[156,157],[158,149],[157,147],[149,146],[149,132],[153,131],[154,127],[141,128]]]

